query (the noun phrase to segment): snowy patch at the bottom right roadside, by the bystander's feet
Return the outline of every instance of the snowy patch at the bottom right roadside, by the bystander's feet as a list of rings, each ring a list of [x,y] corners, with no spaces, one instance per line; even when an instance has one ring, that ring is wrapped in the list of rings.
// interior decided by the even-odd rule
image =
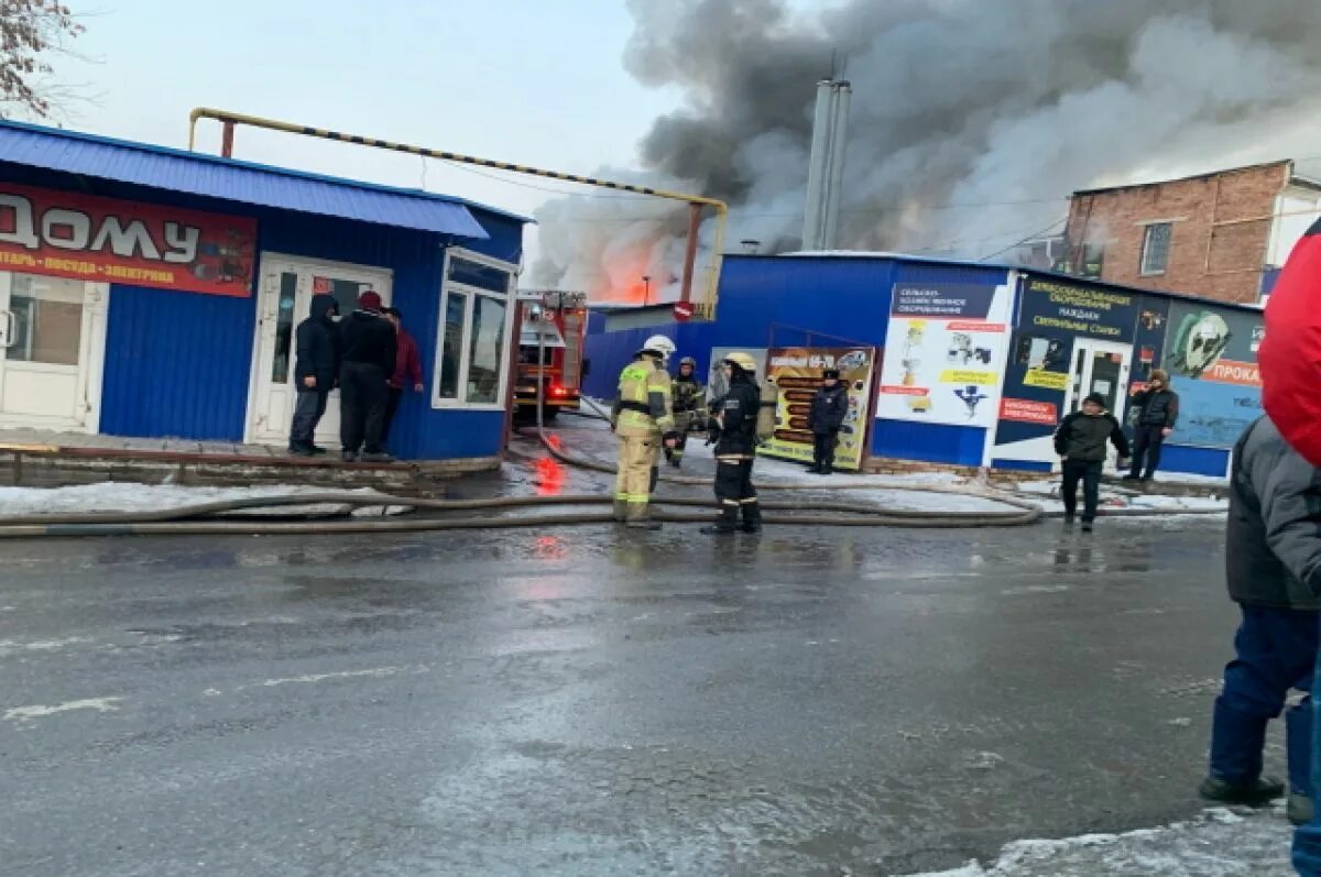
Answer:
[[[1284,877],[1293,873],[1292,837],[1283,808],[1242,815],[1213,808],[1123,835],[1020,840],[995,862],[910,877]]]

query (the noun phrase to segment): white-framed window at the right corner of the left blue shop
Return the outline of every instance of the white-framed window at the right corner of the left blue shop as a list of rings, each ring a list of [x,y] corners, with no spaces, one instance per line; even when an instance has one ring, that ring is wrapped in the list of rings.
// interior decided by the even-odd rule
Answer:
[[[445,254],[433,408],[502,408],[518,267],[466,250]]]

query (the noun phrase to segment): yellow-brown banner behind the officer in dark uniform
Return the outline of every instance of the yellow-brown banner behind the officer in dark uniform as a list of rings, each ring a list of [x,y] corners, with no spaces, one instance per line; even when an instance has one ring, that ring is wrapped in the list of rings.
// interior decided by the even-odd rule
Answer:
[[[812,396],[822,386],[822,371],[839,368],[840,383],[848,387],[848,415],[839,431],[835,468],[859,469],[867,452],[867,411],[875,365],[873,347],[771,347],[766,354],[766,367],[779,388],[779,402],[775,407],[775,435],[761,453],[799,462],[812,461],[808,425]]]

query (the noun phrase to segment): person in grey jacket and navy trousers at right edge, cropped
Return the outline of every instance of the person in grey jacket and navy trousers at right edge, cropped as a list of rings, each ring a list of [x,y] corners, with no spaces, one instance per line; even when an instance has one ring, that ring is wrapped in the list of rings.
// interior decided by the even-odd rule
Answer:
[[[1225,532],[1230,598],[1242,623],[1235,658],[1211,721],[1210,775],[1199,792],[1215,802],[1263,804],[1284,792],[1262,777],[1266,728],[1291,688],[1305,692],[1284,719],[1289,769],[1287,812],[1312,816],[1312,679],[1321,609],[1321,469],[1299,456],[1269,417],[1234,448]]]

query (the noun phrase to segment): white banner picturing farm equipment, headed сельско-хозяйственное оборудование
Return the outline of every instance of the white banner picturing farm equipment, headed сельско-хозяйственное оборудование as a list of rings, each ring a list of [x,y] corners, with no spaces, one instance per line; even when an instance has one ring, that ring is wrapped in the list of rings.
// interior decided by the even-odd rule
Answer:
[[[993,425],[1009,305],[1008,287],[894,284],[876,416]]]

